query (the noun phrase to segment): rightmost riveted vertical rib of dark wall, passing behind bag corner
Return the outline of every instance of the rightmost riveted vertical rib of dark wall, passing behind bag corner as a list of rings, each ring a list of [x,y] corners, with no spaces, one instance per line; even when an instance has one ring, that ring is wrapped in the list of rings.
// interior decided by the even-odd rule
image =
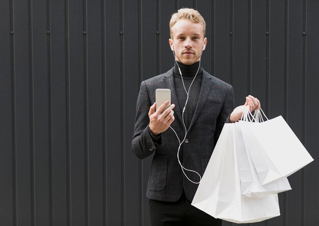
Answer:
[[[306,130],[307,130],[307,0],[302,1],[302,144],[306,145]],[[301,170],[301,223],[302,226],[306,225],[305,209],[306,209],[306,199],[305,199],[305,168]]]

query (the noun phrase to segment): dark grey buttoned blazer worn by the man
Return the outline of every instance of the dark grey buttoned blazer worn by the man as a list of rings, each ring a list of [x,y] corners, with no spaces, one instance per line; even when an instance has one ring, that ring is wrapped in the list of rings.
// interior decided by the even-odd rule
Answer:
[[[148,130],[148,111],[155,102],[156,89],[171,90],[171,103],[175,104],[175,120],[171,127],[180,139],[185,133],[175,93],[173,69],[143,81],[137,100],[132,151],[141,159],[155,152],[146,195],[149,199],[174,202],[184,190],[188,200],[192,201],[198,184],[190,182],[181,171],[177,160],[179,143],[175,133],[168,128],[154,142]],[[198,103],[188,128],[188,143],[183,143],[182,162],[185,168],[203,175],[224,123],[229,122],[233,107],[230,84],[203,70]],[[192,181],[199,181],[197,174],[187,171],[186,174]]]

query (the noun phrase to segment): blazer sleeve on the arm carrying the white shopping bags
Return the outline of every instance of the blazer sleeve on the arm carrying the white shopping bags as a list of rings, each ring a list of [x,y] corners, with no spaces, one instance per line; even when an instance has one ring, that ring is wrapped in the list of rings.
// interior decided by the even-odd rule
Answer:
[[[222,110],[219,117],[217,118],[216,130],[215,130],[215,144],[219,138],[219,135],[222,132],[225,123],[230,123],[230,114],[234,109],[235,100],[234,100],[234,90],[231,85],[228,87],[228,92],[224,100]]]

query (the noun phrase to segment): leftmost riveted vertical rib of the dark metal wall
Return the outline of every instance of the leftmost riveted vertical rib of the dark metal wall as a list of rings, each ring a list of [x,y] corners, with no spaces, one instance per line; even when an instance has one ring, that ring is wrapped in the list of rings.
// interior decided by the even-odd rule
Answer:
[[[10,51],[11,51],[11,107],[12,107],[12,216],[13,216],[13,226],[17,225],[17,171],[16,171],[16,94],[15,94],[15,48],[14,48],[14,1],[10,2],[10,30],[11,30],[11,40],[10,40]]]

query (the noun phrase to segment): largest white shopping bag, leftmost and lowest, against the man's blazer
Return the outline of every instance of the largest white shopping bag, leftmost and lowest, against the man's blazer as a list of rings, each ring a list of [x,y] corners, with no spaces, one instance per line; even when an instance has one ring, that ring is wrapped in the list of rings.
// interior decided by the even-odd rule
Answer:
[[[260,199],[241,194],[234,126],[224,125],[192,205],[215,218],[235,223],[252,223],[279,216],[277,194]]]

